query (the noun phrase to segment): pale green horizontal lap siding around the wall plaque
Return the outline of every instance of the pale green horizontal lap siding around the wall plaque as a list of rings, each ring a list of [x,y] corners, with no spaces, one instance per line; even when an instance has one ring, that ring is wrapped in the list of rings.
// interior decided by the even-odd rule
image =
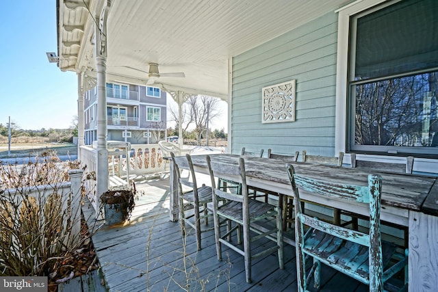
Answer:
[[[335,155],[337,14],[233,58],[232,152]],[[295,122],[261,123],[261,88],[296,79]]]

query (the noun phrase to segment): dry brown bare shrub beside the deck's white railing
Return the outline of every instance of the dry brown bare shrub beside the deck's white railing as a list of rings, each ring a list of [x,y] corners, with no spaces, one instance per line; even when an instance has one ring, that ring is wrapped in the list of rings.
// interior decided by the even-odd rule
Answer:
[[[49,276],[80,244],[71,231],[81,217],[63,208],[72,199],[62,184],[78,168],[51,151],[34,163],[0,163],[0,276]]]

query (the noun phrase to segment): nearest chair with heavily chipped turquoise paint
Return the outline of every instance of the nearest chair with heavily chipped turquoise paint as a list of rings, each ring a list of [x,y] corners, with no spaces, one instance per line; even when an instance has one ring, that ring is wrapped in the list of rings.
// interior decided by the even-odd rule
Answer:
[[[296,271],[299,291],[320,289],[321,263],[368,284],[370,291],[383,291],[384,283],[407,266],[407,250],[398,252],[397,245],[381,241],[381,176],[370,174],[368,185],[341,185],[318,181],[295,174],[286,166],[295,203]],[[366,204],[370,209],[369,233],[327,223],[302,213],[300,191],[313,192],[339,200]],[[307,232],[305,233],[305,228]],[[313,267],[306,261],[313,258]],[[306,272],[309,271],[308,273]],[[404,277],[404,285],[407,276]]]

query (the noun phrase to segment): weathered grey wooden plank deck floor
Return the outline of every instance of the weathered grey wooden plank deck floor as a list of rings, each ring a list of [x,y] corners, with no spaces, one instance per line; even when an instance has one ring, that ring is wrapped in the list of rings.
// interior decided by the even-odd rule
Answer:
[[[89,226],[97,229],[92,241],[109,291],[297,291],[293,246],[285,244],[283,270],[276,254],[253,261],[253,283],[247,284],[243,256],[224,248],[224,260],[217,260],[214,231],[203,233],[203,249],[196,251],[193,230],[182,237],[179,222],[170,222],[168,180],[137,187],[145,194],[125,226],[104,226],[93,220],[90,207],[83,207]],[[322,283],[321,291],[368,291],[326,267]]]

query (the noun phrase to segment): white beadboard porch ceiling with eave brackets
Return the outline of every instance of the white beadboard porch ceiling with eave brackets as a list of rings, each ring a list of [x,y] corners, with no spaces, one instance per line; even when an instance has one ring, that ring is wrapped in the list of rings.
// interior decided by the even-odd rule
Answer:
[[[346,0],[112,0],[107,21],[107,81],[228,96],[228,60],[350,3]],[[58,66],[96,76],[94,19],[101,0],[57,0]]]

